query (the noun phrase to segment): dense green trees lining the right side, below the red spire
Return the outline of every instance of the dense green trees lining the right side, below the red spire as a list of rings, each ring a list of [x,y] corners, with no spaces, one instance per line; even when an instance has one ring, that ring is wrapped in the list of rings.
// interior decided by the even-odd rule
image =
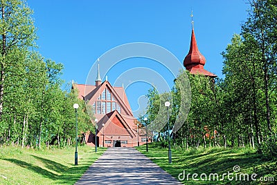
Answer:
[[[249,1],[249,18],[242,25],[240,35],[233,35],[231,43],[222,52],[224,79],[191,75],[181,71],[172,88],[172,113],[170,130],[175,148],[258,148],[258,153],[276,155],[277,130],[277,1]],[[191,104],[186,121],[178,122],[186,83],[178,79],[189,78]],[[157,92],[148,93],[148,117],[166,113],[159,107]],[[180,101],[181,99],[181,101]],[[163,117],[163,119],[166,119]],[[166,139],[166,129],[159,133],[159,140]],[[272,138],[272,139],[269,139]],[[163,144],[162,144],[163,146]]]

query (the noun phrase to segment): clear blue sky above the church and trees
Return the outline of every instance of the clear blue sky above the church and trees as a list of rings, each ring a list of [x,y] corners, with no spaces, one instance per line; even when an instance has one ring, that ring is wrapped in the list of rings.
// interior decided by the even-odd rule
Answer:
[[[46,59],[64,64],[62,78],[78,84],[86,83],[98,57],[124,43],[157,44],[172,52],[182,65],[190,45],[192,8],[197,45],[206,57],[205,68],[223,77],[220,52],[234,33],[240,33],[249,8],[246,0],[27,0],[27,3],[34,10],[39,52]],[[110,83],[136,67],[157,71],[172,86],[172,77],[166,69],[150,59],[120,62],[108,72]],[[143,82],[128,86],[126,93],[133,110],[139,108],[138,99],[149,88],[150,84]]]

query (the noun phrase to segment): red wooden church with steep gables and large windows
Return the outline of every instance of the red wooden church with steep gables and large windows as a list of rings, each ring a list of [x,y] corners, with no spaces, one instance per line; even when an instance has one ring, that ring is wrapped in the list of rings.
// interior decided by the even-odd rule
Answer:
[[[95,86],[73,84],[73,88],[78,89],[80,99],[93,107],[94,117],[98,119],[98,146],[132,147],[146,143],[145,131],[137,128],[124,88],[111,86],[107,79],[102,81],[99,64]],[[85,139],[87,145],[95,146],[93,133],[87,133]]]

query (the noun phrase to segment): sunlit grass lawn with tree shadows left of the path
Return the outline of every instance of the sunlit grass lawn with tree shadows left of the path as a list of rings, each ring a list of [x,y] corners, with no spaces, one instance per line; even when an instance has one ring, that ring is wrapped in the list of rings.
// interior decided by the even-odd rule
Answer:
[[[34,150],[0,146],[0,184],[74,184],[106,148],[78,147],[78,166],[74,165],[75,148]]]

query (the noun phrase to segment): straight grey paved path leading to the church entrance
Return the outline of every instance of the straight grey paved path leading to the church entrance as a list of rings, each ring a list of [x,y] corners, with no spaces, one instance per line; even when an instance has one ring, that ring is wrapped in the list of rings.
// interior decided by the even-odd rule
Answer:
[[[76,184],[181,184],[135,148],[108,148]]]

